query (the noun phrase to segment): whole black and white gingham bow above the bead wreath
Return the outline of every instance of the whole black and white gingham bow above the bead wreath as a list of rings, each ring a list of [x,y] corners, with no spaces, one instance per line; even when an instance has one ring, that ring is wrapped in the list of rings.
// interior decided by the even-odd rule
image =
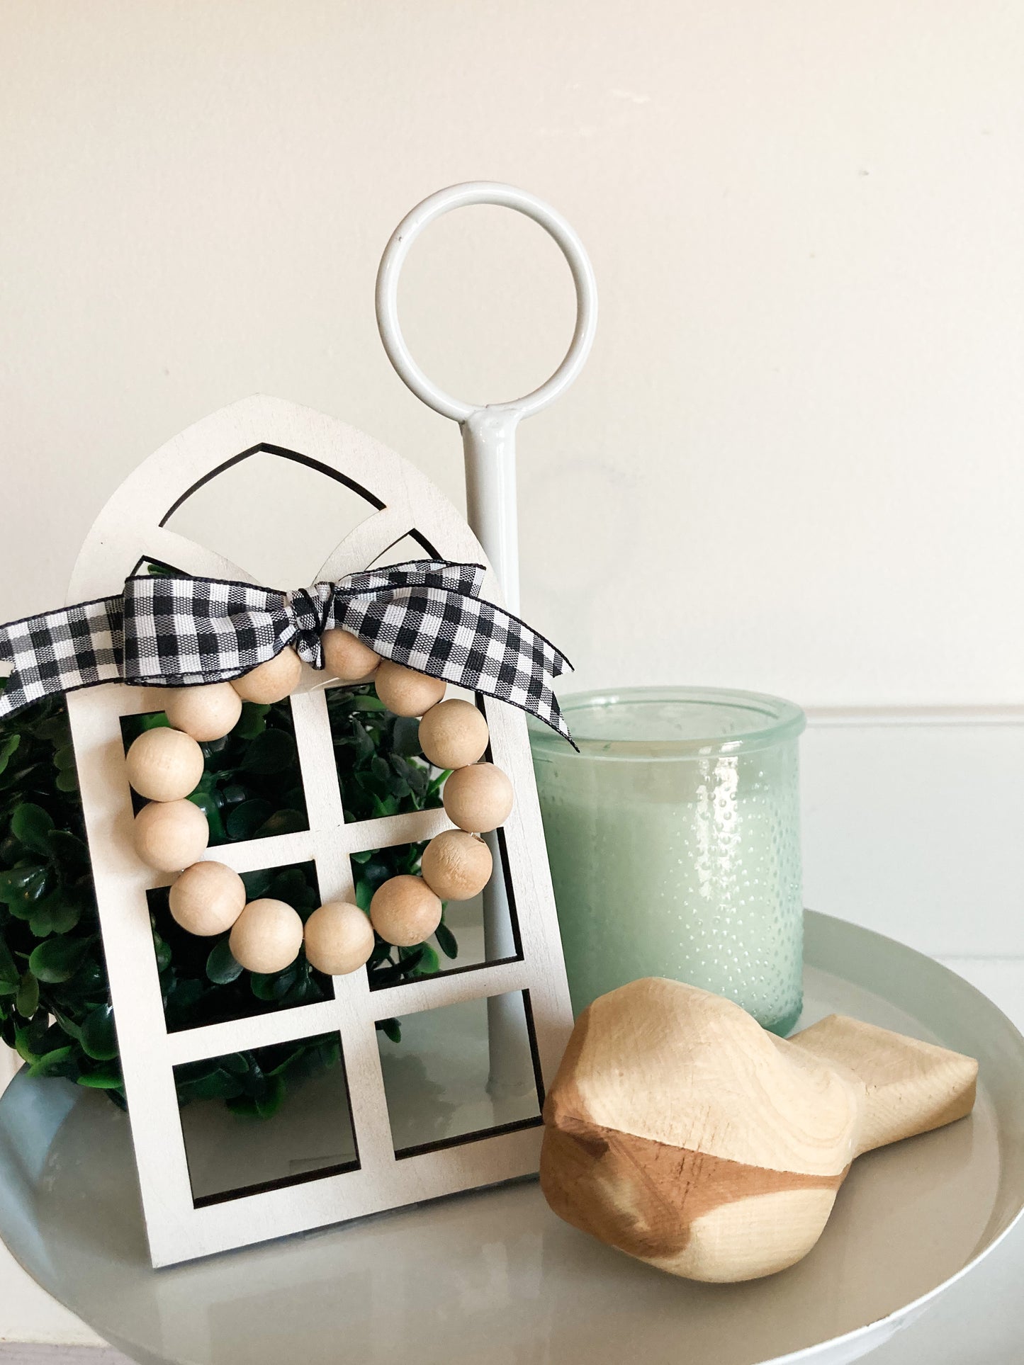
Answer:
[[[131,577],[122,597],[0,627],[0,659],[14,665],[0,718],[100,682],[225,682],[285,646],[322,669],[321,635],[341,627],[384,658],[517,706],[568,740],[550,687],[568,659],[524,621],[481,601],[483,572],[479,564],[414,560],[298,592]]]

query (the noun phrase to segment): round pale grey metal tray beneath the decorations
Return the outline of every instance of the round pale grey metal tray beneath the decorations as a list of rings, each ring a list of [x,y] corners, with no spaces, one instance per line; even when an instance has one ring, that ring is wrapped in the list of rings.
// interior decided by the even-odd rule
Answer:
[[[979,1097],[971,1118],[857,1160],[818,1246],[769,1279],[662,1275],[561,1223],[532,1181],[154,1272],[127,1119],[23,1073],[0,1100],[0,1235],[143,1365],[842,1365],[1024,1208],[1024,1039],[946,968],[812,912],[806,996],[801,1024],[848,1013],[978,1057]]]

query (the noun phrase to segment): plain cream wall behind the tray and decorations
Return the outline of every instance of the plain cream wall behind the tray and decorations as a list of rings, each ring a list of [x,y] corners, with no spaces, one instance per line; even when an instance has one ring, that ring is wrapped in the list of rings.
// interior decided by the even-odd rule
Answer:
[[[255,390],[459,501],[457,433],[390,371],[373,280],[423,195],[511,180],[579,229],[602,308],[522,429],[524,614],[578,685],[810,707],[808,902],[1012,1005],[1023,167],[1012,0],[7,0],[0,620],[63,601],[119,479]],[[481,401],[572,325],[557,250],[500,210],[431,228],[400,302]],[[351,509],[255,474],[194,524],[246,561],[280,523],[299,586]],[[87,1339],[0,1268],[4,1335]]]

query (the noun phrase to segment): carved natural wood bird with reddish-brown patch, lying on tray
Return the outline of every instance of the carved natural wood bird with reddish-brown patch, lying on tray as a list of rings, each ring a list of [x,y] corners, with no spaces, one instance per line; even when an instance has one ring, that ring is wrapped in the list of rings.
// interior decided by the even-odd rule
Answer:
[[[696,1280],[795,1264],[862,1152],[971,1112],[978,1063],[831,1014],[788,1040],[646,977],[579,1017],[545,1103],[554,1212]]]

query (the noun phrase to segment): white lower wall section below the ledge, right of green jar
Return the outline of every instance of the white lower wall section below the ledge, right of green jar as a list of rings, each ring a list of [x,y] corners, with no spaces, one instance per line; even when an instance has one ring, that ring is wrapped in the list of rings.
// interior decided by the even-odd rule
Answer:
[[[852,713],[801,744],[807,905],[933,956],[1024,956],[1024,718]]]

